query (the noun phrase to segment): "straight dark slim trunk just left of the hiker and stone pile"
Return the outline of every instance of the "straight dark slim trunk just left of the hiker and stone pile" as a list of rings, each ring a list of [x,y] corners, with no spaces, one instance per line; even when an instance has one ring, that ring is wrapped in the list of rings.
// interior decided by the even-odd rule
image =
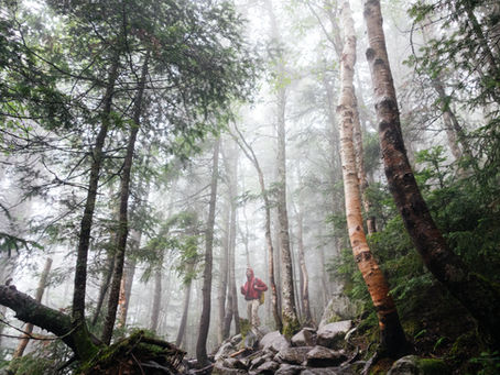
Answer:
[[[203,273],[203,306],[199,321],[199,333],[196,342],[196,360],[204,367],[208,362],[207,339],[210,326],[211,310],[211,269],[214,251],[215,208],[217,201],[217,180],[219,178],[219,146],[220,137],[217,137],[214,146],[214,164],[211,167],[210,202],[208,207],[208,222],[205,234],[205,268]]]

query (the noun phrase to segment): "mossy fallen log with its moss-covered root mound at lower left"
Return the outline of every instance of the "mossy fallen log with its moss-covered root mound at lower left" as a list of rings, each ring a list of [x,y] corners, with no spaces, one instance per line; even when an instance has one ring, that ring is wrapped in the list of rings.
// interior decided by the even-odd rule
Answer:
[[[75,353],[79,366],[76,374],[176,374],[184,351],[138,331],[110,346],[96,342],[87,327],[74,326],[72,318],[48,308],[13,285],[0,286],[0,305],[15,312],[15,317],[58,337]]]

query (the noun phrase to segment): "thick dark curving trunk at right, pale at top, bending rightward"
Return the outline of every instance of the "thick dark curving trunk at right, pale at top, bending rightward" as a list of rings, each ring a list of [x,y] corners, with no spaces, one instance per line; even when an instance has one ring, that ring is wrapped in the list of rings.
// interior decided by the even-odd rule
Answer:
[[[369,37],[367,59],[373,82],[380,144],[395,205],[426,267],[470,311],[498,348],[499,291],[488,280],[469,272],[448,247],[422,198],[407,161],[378,0],[365,2],[365,20]]]

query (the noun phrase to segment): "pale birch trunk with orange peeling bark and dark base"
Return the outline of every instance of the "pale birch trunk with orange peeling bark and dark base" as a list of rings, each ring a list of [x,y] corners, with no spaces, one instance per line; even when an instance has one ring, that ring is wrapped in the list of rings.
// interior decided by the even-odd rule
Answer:
[[[346,197],[347,228],[352,253],[358,268],[367,284],[371,300],[379,318],[382,348],[389,355],[400,356],[406,349],[406,340],[401,327],[394,301],[389,295],[389,285],[373,258],[367,243],[362,225],[359,179],[354,146],[355,95],[354,69],[356,64],[356,34],[349,2],[343,7],[343,30],[345,43],[340,63],[341,96],[337,107],[340,117],[340,142]]]

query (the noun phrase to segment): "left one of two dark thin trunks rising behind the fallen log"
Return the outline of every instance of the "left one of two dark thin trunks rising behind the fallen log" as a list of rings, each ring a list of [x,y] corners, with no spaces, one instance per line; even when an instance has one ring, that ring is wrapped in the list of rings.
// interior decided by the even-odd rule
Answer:
[[[99,174],[104,158],[104,146],[108,128],[110,125],[110,114],[112,99],[115,95],[115,85],[118,78],[120,65],[120,53],[117,51],[111,63],[108,75],[106,93],[102,99],[104,108],[101,113],[101,124],[96,137],[96,144],[91,151],[93,162],[90,167],[90,177],[88,181],[87,199],[85,202],[84,216],[80,222],[80,232],[78,235],[78,250],[76,254],[75,282],[73,291],[73,311],[72,318],[75,326],[85,324],[85,294],[87,288],[87,257],[90,244],[90,230],[93,227],[94,209],[97,199],[97,189],[99,184]]]

